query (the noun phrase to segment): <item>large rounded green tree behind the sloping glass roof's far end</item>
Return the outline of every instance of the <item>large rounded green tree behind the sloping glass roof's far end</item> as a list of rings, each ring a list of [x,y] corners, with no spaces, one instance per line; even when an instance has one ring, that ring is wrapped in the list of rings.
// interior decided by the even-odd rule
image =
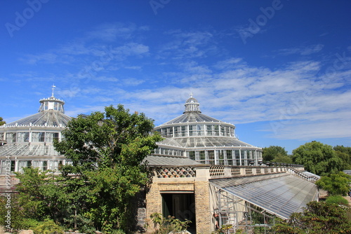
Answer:
[[[293,150],[293,163],[302,164],[305,170],[319,175],[337,174],[343,170],[343,160],[333,148],[321,142],[307,142]]]

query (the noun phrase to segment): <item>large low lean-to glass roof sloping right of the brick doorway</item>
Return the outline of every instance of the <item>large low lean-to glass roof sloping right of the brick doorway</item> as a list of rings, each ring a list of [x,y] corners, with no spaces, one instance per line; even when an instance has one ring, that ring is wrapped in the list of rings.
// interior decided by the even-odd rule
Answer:
[[[291,174],[272,174],[246,178],[213,179],[214,186],[282,219],[317,200],[317,186]]]

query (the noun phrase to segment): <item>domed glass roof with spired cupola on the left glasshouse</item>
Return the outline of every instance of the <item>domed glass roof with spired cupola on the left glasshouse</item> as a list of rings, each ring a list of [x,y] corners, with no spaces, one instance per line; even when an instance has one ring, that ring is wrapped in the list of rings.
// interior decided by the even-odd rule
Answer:
[[[55,85],[53,85],[53,90]],[[71,120],[71,117],[65,115],[65,109],[63,105],[65,102],[61,99],[57,99],[53,96],[39,100],[40,107],[39,113],[35,113],[32,116],[21,118],[18,121],[13,121],[3,125],[8,126],[51,126],[51,127],[65,127]]]

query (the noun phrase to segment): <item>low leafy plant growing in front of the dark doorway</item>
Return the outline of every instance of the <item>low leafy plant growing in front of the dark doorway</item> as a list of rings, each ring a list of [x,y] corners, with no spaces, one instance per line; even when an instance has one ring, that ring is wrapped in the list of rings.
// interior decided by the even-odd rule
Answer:
[[[150,215],[150,219],[154,222],[155,234],[168,234],[168,233],[182,233],[187,230],[189,224],[192,222],[185,219],[185,221],[180,221],[174,216],[168,216],[164,218],[162,214],[153,213]]]

